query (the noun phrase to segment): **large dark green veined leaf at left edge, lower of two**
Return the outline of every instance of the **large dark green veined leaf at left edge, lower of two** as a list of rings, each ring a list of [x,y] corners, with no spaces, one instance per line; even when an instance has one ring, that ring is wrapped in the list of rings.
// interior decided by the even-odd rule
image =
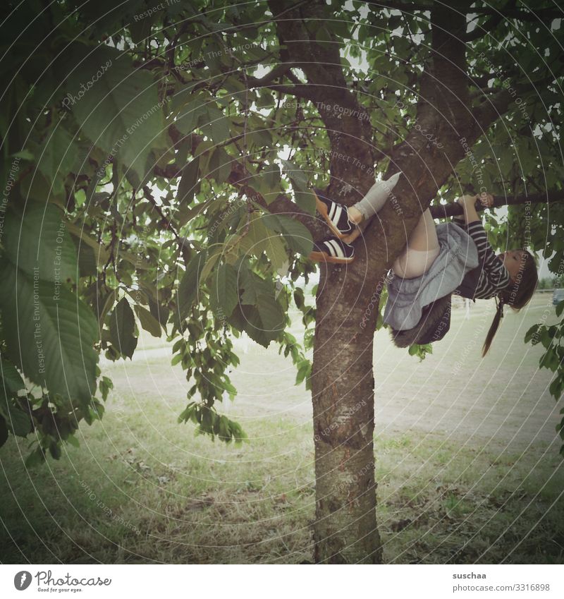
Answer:
[[[4,262],[0,309],[8,356],[25,376],[51,393],[90,401],[96,389],[98,323],[80,298],[54,284],[34,281]],[[17,316],[16,316],[17,315]]]

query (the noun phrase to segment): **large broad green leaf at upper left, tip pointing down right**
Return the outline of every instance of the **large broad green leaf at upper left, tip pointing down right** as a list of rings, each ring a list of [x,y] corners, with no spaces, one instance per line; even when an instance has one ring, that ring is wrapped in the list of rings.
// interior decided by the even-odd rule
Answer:
[[[71,52],[74,63],[84,59],[71,69],[63,104],[96,145],[144,179],[150,150],[165,145],[163,104],[152,73],[135,70],[130,56],[106,45],[73,44]]]

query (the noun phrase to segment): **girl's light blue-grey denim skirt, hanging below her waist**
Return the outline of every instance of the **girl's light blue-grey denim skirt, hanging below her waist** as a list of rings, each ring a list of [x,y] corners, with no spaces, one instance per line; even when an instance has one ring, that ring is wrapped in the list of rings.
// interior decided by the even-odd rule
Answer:
[[[384,324],[398,331],[415,327],[426,305],[451,294],[479,264],[476,244],[458,224],[439,223],[436,235],[439,255],[427,272],[415,279],[402,279],[393,271],[388,274]]]

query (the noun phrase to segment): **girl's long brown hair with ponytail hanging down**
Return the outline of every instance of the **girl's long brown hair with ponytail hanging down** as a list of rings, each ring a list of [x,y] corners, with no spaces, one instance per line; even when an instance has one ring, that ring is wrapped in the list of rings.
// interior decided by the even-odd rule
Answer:
[[[524,308],[529,303],[534,290],[537,289],[538,282],[539,275],[537,274],[537,265],[534,262],[534,256],[527,252],[527,250],[524,250],[517,277],[515,280],[511,279],[511,284],[496,296],[496,315],[491,322],[486,341],[484,341],[484,346],[482,347],[482,358],[488,353],[491,341],[494,339],[499,323],[503,318],[503,306],[509,305],[515,312],[519,312],[521,308]]]

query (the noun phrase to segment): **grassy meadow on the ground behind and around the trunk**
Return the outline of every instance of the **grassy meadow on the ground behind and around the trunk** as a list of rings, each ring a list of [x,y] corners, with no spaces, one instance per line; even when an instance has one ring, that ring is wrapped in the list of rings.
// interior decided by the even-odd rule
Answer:
[[[564,562],[559,406],[540,349],[522,344],[546,301],[508,313],[486,361],[485,331],[475,334],[491,319],[483,304],[470,320],[455,310],[453,334],[422,363],[376,334],[387,562]],[[144,337],[140,349],[104,365],[116,388],[103,420],[81,425],[80,447],[29,472],[25,440],[1,450],[1,562],[311,562],[311,399],[291,363],[254,345],[241,352],[240,396],[222,406],[250,438],[235,447],[176,423],[183,372],[163,341]]]

